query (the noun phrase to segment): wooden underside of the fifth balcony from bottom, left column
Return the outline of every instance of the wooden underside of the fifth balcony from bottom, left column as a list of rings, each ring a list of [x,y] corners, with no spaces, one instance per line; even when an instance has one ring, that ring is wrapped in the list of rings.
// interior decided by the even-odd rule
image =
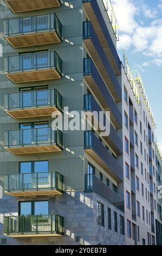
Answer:
[[[56,69],[44,69],[37,71],[24,71],[5,74],[12,83],[29,83],[36,81],[46,81],[60,79],[61,75]]]

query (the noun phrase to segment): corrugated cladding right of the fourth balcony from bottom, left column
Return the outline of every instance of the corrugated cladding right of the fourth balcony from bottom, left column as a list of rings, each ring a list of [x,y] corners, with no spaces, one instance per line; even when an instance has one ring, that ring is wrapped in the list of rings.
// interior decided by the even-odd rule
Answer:
[[[72,109],[83,109],[83,81],[59,82],[49,84],[49,88],[55,88],[62,95],[63,106]],[[75,97],[74,97],[75,95]]]

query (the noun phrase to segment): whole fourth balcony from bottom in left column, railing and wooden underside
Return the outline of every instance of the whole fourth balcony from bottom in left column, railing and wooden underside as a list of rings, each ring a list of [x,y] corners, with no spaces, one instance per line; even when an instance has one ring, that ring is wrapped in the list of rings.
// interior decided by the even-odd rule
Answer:
[[[61,115],[62,96],[56,89],[5,94],[5,112],[14,119]]]

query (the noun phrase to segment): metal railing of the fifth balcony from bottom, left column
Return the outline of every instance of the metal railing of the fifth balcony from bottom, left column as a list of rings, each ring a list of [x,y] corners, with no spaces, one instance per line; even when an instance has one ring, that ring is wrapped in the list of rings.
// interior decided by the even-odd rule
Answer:
[[[62,60],[55,51],[5,57],[5,74],[46,69],[56,69],[62,76]]]

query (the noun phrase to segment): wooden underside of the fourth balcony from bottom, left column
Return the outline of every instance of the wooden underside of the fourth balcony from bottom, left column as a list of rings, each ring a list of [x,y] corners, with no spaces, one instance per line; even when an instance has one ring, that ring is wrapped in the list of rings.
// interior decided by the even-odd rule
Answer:
[[[22,118],[34,118],[34,117],[48,117],[51,116],[53,112],[57,112],[57,115],[62,113],[57,109],[57,107],[40,107],[40,108],[28,108],[28,109],[17,109],[5,111],[10,117],[14,119]]]

